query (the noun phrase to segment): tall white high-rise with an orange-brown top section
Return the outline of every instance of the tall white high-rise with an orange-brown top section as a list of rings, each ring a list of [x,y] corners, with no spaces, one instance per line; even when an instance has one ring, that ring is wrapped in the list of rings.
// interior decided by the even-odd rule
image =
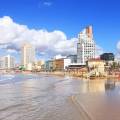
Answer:
[[[95,42],[92,26],[86,27],[78,35],[77,63],[85,64],[87,60],[95,58]]]

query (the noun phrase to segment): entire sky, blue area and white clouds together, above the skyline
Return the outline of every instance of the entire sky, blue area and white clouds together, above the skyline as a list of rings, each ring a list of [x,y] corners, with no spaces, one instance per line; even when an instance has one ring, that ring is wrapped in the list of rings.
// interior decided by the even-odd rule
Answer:
[[[93,26],[101,52],[120,51],[120,0],[0,0],[0,56],[20,59],[23,41],[37,58],[75,54],[77,36]]]

